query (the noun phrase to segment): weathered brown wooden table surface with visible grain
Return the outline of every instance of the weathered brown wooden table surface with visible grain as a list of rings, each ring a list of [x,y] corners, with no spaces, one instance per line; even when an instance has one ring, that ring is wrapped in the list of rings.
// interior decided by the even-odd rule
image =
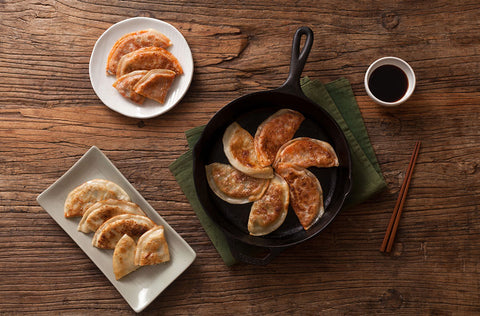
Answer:
[[[480,4],[437,1],[1,1],[0,314],[133,314],[36,197],[99,147],[197,253],[145,309],[165,315],[480,313]],[[135,16],[188,41],[189,91],[153,119],[102,104],[89,80],[97,38]],[[184,132],[247,93],[278,87],[291,39],[315,33],[303,75],[350,80],[388,188],[344,210],[267,266],[222,262],[168,166]],[[363,76],[407,60],[412,98],[383,108]],[[394,250],[379,252],[416,140]]]

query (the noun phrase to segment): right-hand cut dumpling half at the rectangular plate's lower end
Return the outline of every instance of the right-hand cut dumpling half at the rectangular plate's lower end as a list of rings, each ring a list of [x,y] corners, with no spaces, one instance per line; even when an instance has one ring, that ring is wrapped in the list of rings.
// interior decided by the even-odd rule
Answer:
[[[169,260],[170,251],[163,226],[160,225],[150,229],[138,239],[135,265],[146,266]]]

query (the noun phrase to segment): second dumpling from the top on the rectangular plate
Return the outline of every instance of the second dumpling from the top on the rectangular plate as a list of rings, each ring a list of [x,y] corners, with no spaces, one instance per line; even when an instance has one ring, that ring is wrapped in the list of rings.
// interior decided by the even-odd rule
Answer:
[[[143,215],[140,206],[133,202],[123,200],[103,200],[90,206],[78,223],[78,230],[84,233],[94,232],[108,219],[121,214]]]

